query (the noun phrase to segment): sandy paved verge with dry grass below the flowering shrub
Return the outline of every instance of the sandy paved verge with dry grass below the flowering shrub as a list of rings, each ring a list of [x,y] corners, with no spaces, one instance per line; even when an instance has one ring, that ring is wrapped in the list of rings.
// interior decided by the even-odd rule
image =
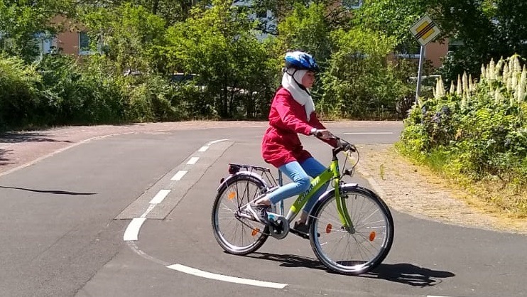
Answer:
[[[375,190],[390,207],[441,222],[527,234],[525,214],[507,211],[503,203],[496,203],[497,198],[491,198],[525,202],[525,191],[511,198],[490,184],[483,187],[453,180],[413,163],[393,145],[368,145],[359,150],[362,156],[357,170],[374,178]]]

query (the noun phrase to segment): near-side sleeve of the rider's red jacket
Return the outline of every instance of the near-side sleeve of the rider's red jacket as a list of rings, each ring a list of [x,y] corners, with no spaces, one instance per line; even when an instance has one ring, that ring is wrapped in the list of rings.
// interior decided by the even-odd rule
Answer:
[[[314,127],[307,123],[305,109],[302,105],[293,99],[290,95],[278,93],[273,105],[280,116],[281,121],[291,131],[296,133],[310,135]]]

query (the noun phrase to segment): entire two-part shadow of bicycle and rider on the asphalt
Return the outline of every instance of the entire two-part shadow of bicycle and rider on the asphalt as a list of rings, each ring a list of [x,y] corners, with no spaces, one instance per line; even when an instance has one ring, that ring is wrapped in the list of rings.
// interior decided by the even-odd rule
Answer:
[[[301,257],[293,254],[269,254],[269,253],[253,253],[245,257],[270,260],[281,262],[280,266],[284,267],[307,267],[311,269],[320,269],[329,271],[318,259]],[[384,279],[386,281],[393,281],[400,284],[407,284],[410,286],[435,286],[442,282],[441,279],[455,276],[450,271],[432,270],[424,267],[418,267],[412,264],[380,264],[376,269],[369,271],[366,274],[361,274],[357,277],[366,277],[370,279]]]

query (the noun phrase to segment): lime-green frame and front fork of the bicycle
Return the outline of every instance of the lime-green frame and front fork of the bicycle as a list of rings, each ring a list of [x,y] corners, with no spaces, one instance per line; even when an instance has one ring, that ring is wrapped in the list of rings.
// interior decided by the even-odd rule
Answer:
[[[286,219],[288,222],[291,222],[295,219],[295,217],[300,213],[300,210],[303,209],[305,204],[317,193],[322,186],[324,186],[326,183],[332,182],[333,188],[335,188],[335,199],[337,200],[337,211],[339,214],[340,222],[342,222],[343,227],[353,227],[352,219],[349,217],[349,213],[347,211],[346,203],[343,201],[342,197],[340,196],[340,172],[339,172],[339,160],[337,158],[337,153],[339,151],[333,152],[333,158],[331,161],[330,166],[320,175],[313,178],[311,180],[310,188],[305,191],[304,193],[298,195],[298,198],[296,198],[295,202],[293,202],[293,205],[289,208],[289,212],[286,215]],[[279,173],[279,183],[281,184],[281,173]],[[279,211],[281,212],[279,215],[283,215],[283,201],[280,202],[278,205]]]

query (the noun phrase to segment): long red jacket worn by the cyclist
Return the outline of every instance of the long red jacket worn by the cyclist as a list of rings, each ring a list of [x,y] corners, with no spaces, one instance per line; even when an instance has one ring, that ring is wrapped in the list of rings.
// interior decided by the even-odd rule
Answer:
[[[310,135],[313,128],[326,129],[315,112],[310,114],[308,121],[305,108],[284,88],[276,92],[271,103],[269,125],[266,134],[263,135],[261,154],[263,160],[276,168],[291,161],[301,163],[311,157],[300,143],[298,133]],[[335,139],[325,142],[333,147],[337,146]]]

